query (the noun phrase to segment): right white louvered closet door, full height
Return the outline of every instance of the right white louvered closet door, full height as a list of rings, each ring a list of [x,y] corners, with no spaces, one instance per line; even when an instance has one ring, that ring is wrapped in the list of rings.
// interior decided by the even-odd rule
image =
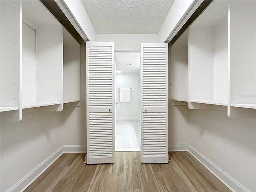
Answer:
[[[168,163],[168,43],[141,44],[141,162]]]

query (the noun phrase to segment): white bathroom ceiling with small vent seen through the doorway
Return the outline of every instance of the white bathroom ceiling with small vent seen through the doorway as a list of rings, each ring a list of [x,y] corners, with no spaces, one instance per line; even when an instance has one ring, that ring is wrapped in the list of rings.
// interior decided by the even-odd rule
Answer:
[[[140,72],[140,53],[139,52],[115,52],[116,70],[122,73]],[[132,66],[128,66],[132,63]]]

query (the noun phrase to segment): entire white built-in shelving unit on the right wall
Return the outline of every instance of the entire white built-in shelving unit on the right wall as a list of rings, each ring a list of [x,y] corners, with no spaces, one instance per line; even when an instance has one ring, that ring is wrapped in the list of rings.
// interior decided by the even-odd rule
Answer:
[[[172,105],[185,105],[188,89],[189,109],[256,117],[255,9],[256,1],[213,1],[172,44]]]

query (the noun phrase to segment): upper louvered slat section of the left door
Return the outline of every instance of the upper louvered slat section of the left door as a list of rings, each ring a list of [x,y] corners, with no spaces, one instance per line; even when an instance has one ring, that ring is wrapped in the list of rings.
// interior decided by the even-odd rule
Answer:
[[[112,46],[88,46],[89,107],[112,106]]]

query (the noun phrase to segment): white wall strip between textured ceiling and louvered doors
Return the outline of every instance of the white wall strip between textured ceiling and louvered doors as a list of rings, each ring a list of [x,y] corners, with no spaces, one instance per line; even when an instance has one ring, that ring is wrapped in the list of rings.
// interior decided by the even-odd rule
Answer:
[[[138,48],[141,43],[156,43],[156,34],[97,34],[97,41],[114,42],[115,48]]]

